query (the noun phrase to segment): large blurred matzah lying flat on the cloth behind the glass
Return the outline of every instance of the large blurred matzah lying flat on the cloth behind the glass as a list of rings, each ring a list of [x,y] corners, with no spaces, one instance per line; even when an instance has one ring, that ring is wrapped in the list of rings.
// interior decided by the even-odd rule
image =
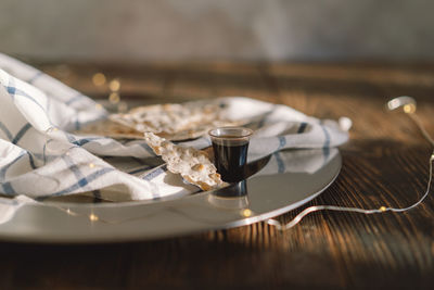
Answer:
[[[154,104],[111,114],[108,119],[89,125],[78,134],[142,139],[143,133],[151,131],[167,140],[181,141],[204,136],[214,127],[245,124],[245,121],[233,121],[227,115],[226,108],[218,101]]]

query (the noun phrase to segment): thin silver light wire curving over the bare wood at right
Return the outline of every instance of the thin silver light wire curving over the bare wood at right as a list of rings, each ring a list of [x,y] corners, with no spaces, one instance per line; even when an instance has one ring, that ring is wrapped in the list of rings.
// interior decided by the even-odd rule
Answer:
[[[406,115],[408,115],[414,122],[414,124],[418,126],[418,128],[421,131],[421,134],[423,135],[423,137],[434,147],[434,140],[431,138],[430,134],[426,131],[426,129],[423,126],[420,118],[414,114],[416,113],[416,101],[411,97],[398,97],[398,98],[391,100],[388,103],[396,102],[396,101],[398,101],[398,102],[404,101],[404,103],[399,103],[399,106],[410,105],[411,110],[408,110],[408,106],[407,106],[407,109],[404,108],[404,112],[406,113]],[[398,108],[398,106],[396,106],[396,108]],[[396,108],[390,108],[390,110],[395,110]],[[336,206],[336,205],[314,205],[314,206],[307,207],[306,210],[304,210],[303,212],[297,214],[291,222],[289,222],[286,224],[280,223],[279,220],[273,219],[273,218],[268,219],[267,224],[275,226],[278,230],[284,231],[284,230],[288,230],[288,229],[294,227],[295,225],[297,225],[299,222],[302,222],[302,219],[306,215],[314,213],[314,212],[318,212],[318,211],[353,212],[353,213],[361,213],[361,214],[380,214],[380,213],[385,213],[385,212],[401,213],[401,212],[409,211],[409,210],[418,206],[419,204],[421,204],[425,200],[427,194],[430,193],[431,184],[432,184],[432,179],[433,179],[433,161],[434,161],[434,150],[431,153],[430,161],[429,161],[430,176],[429,176],[429,180],[426,184],[426,190],[425,190],[424,194],[422,196],[422,198],[420,198],[416,203],[411,204],[410,206],[399,207],[399,209],[381,206],[380,209],[365,210],[365,209],[359,209],[359,207],[345,207],[345,206]]]

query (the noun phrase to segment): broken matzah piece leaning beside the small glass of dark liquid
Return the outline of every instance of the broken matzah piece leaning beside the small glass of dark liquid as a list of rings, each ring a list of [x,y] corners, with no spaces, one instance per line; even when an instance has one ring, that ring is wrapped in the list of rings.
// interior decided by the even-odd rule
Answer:
[[[186,148],[156,136],[144,133],[144,140],[167,163],[167,169],[180,174],[187,181],[202,190],[210,190],[224,185],[217,168],[207,154],[194,148]]]

